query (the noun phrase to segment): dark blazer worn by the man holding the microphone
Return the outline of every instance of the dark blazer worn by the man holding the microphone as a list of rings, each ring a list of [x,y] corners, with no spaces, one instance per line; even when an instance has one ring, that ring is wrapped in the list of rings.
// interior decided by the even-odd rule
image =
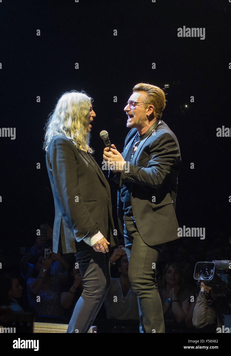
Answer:
[[[131,129],[125,138],[125,158],[137,129]],[[155,246],[178,239],[175,215],[176,191],[181,158],[179,143],[164,121],[142,140],[135,151],[129,172],[117,175],[118,220],[123,234],[124,212],[120,189],[125,182],[132,184],[131,202],[135,222],[143,241]],[[118,179],[117,178],[117,179]]]

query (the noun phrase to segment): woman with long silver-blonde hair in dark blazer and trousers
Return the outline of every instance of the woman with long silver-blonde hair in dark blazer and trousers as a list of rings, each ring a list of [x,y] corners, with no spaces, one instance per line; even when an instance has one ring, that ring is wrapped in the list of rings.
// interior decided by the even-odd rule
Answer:
[[[88,95],[63,94],[47,122],[43,146],[55,201],[53,252],[74,252],[83,278],[67,333],[87,333],[96,318],[110,286],[108,246],[118,242],[109,184],[89,146],[95,117]],[[42,272],[45,276],[46,269]],[[69,293],[75,293],[73,286]]]

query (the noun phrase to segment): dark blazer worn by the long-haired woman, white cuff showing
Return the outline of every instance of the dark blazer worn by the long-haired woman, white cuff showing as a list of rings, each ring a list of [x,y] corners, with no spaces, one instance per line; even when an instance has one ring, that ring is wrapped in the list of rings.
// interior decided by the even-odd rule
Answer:
[[[53,251],[76,252],[75,240],[98,231],[115,246],[110,187],[93,157],[67,137],[55,136],[48,144],[46,165],[55,201]]]

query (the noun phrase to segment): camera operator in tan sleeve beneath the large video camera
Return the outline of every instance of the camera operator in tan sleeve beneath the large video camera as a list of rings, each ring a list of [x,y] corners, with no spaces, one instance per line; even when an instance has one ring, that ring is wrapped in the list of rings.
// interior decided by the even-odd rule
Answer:
[[[209,295],[211,295],[212,301],[209,300]],[[216,331],[218,331],[217,328],[222,330],[222,325],[224,328],[231,328],[231,297],[216,298],[212,287],[201,282],[193,311],[193,326],[201,329],[206,325],[213,324],[216,325]]]

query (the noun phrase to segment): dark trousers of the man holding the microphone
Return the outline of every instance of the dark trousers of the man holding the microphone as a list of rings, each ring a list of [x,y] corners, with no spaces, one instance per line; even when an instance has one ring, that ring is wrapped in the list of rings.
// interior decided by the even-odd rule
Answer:
[[[124,221],[124,241],[129,261],[128,277],[138,297],[140,333],[164,333],[162,304],[153,268],[158,262],[161,246],[145,244],[134,219]]]

